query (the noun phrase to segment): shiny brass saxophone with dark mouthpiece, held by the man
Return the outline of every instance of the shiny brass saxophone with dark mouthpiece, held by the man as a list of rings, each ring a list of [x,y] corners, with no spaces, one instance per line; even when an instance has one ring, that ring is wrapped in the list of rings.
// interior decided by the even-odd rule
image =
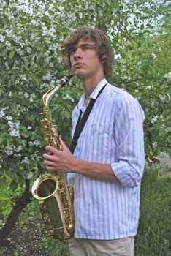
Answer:
[[[56,125],[50,114],[49,102],[56,91],[65,86],[70,78],[72,75],[66,75],[57,86],[53,86],[42,96],[45,118],[40,123],[43,128],[45,143],[58,150],[61,150],[61,145]],[[67,184],[66,175],[64,173],[44,174],[34,181],[31,192],[34,198],[40,201],[39,208],[50,236],[61,241],[72,238],[75,229],[74,192],[73,188]]]

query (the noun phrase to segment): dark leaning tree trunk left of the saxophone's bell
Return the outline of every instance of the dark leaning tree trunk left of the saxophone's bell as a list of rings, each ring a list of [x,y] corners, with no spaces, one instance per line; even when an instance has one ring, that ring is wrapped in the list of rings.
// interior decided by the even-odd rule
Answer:
[[[23,211],[28,203],[31,203],[31,192],[29,191],[29,185],[30,181],[26,179],[26,189],[24,190],[23,195],[21,195],[18,201],[15,203],[9,217],[7,217],[4,227],[0,230],[0,246],[5,246],[5,244],[7,244],[7,241],[4,239],[7,238],[9,233],[12,231],[12,228],[15,226],[21,211]]]

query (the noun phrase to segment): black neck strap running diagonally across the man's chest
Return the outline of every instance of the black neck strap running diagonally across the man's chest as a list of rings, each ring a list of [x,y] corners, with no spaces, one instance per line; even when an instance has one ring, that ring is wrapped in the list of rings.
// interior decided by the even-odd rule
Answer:
[[[105,84],[105,86],[106,85],[107,85],[107,83]],[[103,91],[105,86],[103,86],[102,89],[99,91],[99,94],[97,95],[96,99],[102,93],[102,91]],[[82,111],[80,110],[80,116],[77,119],[77,125],[75,127],[75,133],[74,133],[74,136],[72,138],[72,142],[71,142],[71,144],[69,146],[69,150],[72,152],[72,154],[75,151],[75,147],[77,146],[77,140],[80,137],[80,133],[83,131],[83,128],[84,128],[84,126],[86,124],[86,121],[88,119],[89,114],[91,113],[91,110],[92,110],[92,108],[94,106],[94,103],[96,102],[96,99],[92,99],[91,98],[91,101],[88,104],[88,107],[86,108],[85,113],[83,114],[83,118],[81,118]]]

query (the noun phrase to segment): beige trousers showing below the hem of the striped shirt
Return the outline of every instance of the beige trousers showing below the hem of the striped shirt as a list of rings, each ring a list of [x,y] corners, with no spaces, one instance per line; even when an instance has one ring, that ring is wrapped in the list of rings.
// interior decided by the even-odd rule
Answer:
[[[71,256],[134,256],[134,236],[115,240],[72,238],[69,250]]]

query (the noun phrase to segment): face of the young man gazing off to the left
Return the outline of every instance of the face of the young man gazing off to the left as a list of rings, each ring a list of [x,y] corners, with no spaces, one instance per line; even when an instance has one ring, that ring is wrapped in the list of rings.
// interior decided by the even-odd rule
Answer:
[[[70,51],[72,71],[80,79],[102,75],[103,67],[99,61],[94,42],[80,39]]]

